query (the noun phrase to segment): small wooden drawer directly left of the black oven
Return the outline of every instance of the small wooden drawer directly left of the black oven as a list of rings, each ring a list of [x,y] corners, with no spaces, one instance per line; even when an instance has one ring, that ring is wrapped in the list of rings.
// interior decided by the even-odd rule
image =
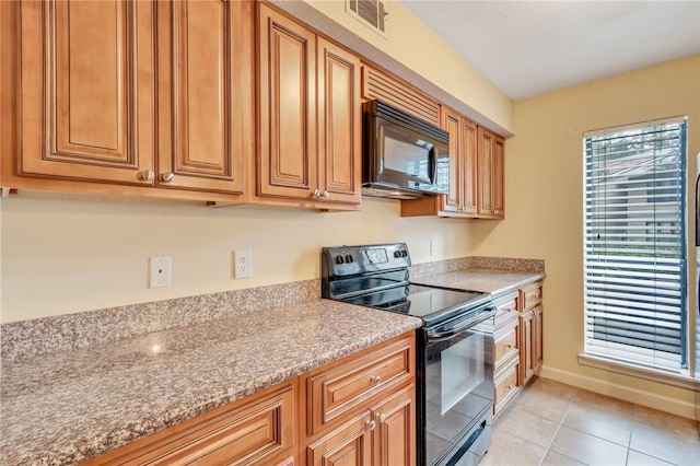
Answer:
[[[375,395],[411,383],[415,373],[412,338],[394,340],[370,352],[346,358],[329,370],[312,374],[306,382],[306,403],[311,410],[308,433],[335,419],[369,406]]]

